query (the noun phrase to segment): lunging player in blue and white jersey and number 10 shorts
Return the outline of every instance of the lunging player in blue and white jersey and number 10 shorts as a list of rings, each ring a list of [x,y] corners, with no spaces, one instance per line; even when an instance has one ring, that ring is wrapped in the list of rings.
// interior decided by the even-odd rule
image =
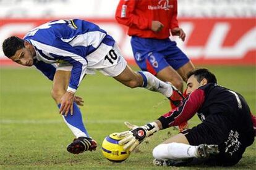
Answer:
[[[75,96],[86,74],[99,70],[122,84],[134,88],[144,87],[170,98],[173,86],[160,81],[147,71],[133,71],[122,56],[114,39],[98,25],[85,20],[54,20],[29,31],[25,38],[7,38],[4,54],[20,65],[34,65],[53,80],[51,95],[59,107],[59,113],[74,133],[76,139],[67,147],[78,154],[95,150],[93,140],[82,121],[77,105],[83,100]]]

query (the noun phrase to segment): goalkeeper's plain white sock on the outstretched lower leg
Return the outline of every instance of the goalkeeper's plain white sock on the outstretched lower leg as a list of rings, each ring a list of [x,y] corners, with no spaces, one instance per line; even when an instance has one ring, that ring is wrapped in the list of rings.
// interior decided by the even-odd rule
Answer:
[[[153,149],[153,156],[159,160],[184,160],[187,158],[195,158],[196,149],[197,146],[181,143],[160,144]]]

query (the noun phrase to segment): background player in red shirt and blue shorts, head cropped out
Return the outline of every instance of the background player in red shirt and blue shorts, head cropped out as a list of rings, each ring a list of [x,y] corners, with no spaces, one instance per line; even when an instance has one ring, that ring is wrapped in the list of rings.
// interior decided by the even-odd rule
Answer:
[[[177,1],[121,0],[116,9],[117,22],[129,26],[134,58],[142,70],[150,71],[163,81],[171,82],[183,91],[183,81],[194,65],[176,42],[169,39],[186,34],[177,21]]]

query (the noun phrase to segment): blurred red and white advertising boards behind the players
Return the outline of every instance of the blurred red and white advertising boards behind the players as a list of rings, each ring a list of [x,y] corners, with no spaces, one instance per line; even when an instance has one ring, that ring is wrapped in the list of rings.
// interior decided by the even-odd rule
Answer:
[[[114,36],[129,62],[133,61],[126,27],[114,20],[119,0],[0,0],[0,42],[23,36],[48,20],[82,18]],[[178,46],[195,64],[256,64],[255,0],[179,0],[179,25],[186,41]],[[9,63],[0,51],[1,64]]]

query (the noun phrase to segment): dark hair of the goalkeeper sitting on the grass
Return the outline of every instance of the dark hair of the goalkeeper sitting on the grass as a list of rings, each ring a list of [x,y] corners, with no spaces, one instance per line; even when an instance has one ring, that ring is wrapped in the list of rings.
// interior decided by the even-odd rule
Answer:
[[[198,83],[202,81],[202,79],[207,79],[207,83],[217,83],[216,76],[213,75],[207,68],[198,68],[187,73],[187,78],[194,75],[197,79]]]

